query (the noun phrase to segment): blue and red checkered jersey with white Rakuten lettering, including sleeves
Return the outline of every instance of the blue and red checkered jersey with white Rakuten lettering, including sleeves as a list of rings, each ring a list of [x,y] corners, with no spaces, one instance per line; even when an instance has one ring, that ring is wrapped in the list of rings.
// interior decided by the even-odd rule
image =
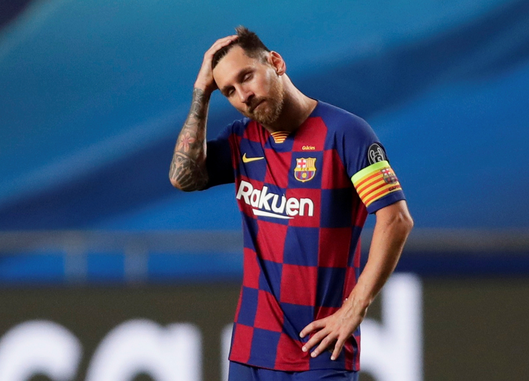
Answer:
[[[404,199],[384,147],[360,117],[318,101],[293,133],[237,120],[207,143],[208,187],[235,182],[244,273],[230,360],[302,371],[359,370],[360,329],[335,361],[299,332],[337,311],[359,276],[368,213]]]

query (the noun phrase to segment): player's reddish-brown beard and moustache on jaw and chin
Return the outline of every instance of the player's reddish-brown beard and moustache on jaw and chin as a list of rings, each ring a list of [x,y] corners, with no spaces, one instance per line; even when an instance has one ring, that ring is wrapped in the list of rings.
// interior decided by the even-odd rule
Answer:
[[[259,103],[261,104],[259,105]],[[283,83],[276,78],[272,80],[268,97],[253,99],[249,109],[245,110],[243,114],[244,116],[255,120],[257,123],[271,125],[279,118],[284,103],[285,91]]]

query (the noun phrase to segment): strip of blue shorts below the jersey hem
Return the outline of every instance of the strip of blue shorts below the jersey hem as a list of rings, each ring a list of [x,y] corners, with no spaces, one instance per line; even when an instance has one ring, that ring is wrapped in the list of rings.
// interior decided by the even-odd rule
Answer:
[[[282,371],[230,361],[228,381],[358,381],[358,372],[336,369]]]

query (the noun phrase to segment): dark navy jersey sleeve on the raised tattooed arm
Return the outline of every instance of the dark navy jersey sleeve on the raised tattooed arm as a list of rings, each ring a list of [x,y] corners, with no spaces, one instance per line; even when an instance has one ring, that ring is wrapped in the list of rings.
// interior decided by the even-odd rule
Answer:
[[[230,147],[232,129],[233,124],[228,125],[215,139],[206,143],[208,182],[204,189],[235,181]]]

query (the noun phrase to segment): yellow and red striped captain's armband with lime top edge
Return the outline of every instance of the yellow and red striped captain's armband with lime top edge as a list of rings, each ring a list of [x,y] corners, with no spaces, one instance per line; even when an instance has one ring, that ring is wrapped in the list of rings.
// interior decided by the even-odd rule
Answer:
[[[402,189],[387,160],[371,164],[358,171],[352,176],[351,181],[366,207],[387,194]]]

